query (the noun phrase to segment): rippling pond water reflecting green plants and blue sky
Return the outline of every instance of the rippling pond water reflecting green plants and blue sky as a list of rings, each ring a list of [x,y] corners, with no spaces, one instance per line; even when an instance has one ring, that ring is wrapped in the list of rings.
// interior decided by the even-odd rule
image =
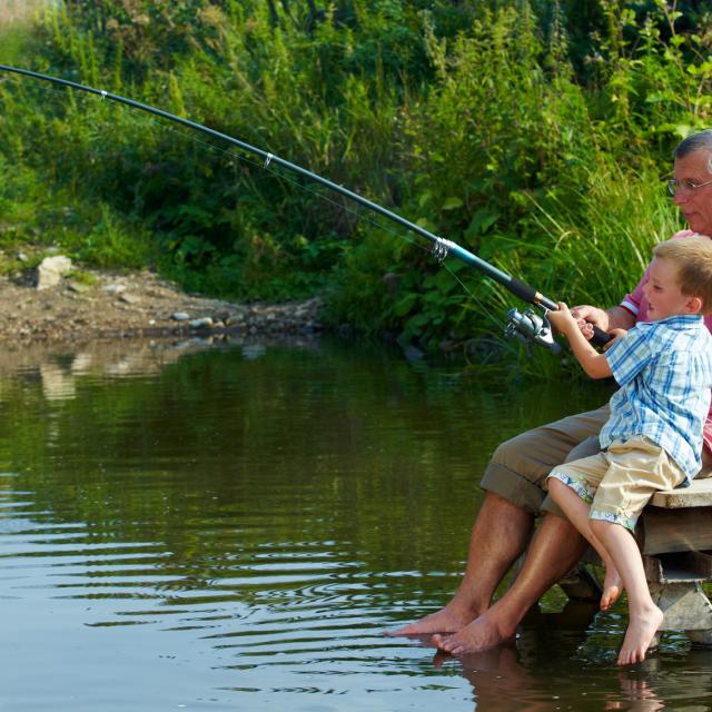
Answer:
[[[712,710],[682,634],[556,589],[516,645],[383,631],[457,584],[496,443],[599,405],[326,342],[0,356],[0,710]]]

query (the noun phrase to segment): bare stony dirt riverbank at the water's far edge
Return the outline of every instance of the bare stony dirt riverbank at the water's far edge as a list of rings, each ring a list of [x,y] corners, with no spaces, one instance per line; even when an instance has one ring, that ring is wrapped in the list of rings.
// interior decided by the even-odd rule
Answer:
[[[236,304],[188,295],[151,271],[82,269],[38,289],[31,278],[0,278],[0,339],[67,342],[209,334],[290,335],[323,329],[318,298]]]

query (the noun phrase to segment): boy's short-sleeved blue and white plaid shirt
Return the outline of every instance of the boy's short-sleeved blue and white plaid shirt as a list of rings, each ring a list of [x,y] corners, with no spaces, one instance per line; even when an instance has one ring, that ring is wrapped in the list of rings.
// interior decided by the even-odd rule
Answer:
[[[611,398],[601,447],[644,435],[675,461],[689,484],[702,466],[712,386],[712,336],[702,317],[641,322],[605,356],[621,388]]]

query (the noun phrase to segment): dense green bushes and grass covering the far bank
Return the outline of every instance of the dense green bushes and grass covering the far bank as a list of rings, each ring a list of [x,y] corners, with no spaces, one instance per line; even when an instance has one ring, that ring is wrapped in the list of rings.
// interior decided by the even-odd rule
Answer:
[[[711,122],[705,12],[664,0],[66,0],[30,29],[0,28],[13,38],[0,60],[24,56],[238,137],[553,298],[609,305],[680,225],[660,178],[675,142]],[[425,348],[500,330],[513,301],[500,287],[453,260],[441,269],[419,238],[307,179],[82,92],[3,79],[3,245],[150,263],[233,298],[323,291],[335,325]]]

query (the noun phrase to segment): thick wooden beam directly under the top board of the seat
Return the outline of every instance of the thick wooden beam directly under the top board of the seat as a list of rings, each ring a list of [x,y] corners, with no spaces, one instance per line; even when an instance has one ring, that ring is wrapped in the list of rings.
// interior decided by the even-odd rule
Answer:
[[[643,554],[712,550],[712,507],[645,507],[636,528]]]

